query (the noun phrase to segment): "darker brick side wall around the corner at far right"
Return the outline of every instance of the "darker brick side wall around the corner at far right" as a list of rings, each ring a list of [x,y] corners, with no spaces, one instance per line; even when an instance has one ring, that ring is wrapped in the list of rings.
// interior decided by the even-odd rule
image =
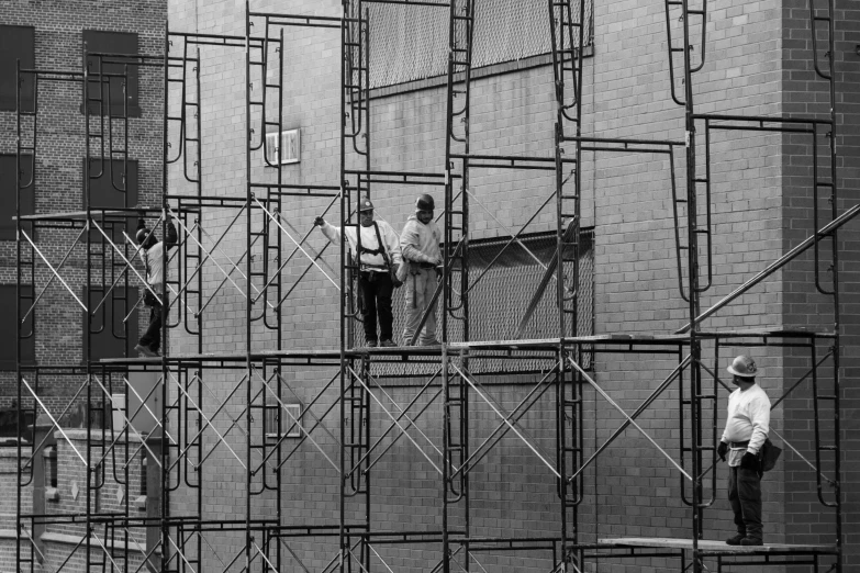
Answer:
[[[819,15],[826,15],[820,11]],[[857,203],[858,188],[858,160],[860,160],[860,146],[858,146],[857,127],[860,125],[860,108],[858,108],[856,94],[858,92],[858,70],[860,70],[860,57],[856,47],[860,41],[860,29],[857,9],[849,2],[836,3],[836,52],[835,52],[835,85],[837,105],[836,150],[838,154],[837,180],[839,201],[836,203],[837,212],[841,213]],[[819,119],[829,119],[830,101],[827,81],[815,74],[813,45],[809,34],[808,5],[791,2],[783,5],[783,98],[786,113],[814,115]],[[819,30],[826,30],[826,23],[819,23]],[[819,68],[828,71],[828,65],[824,57],[827,35],[818,35],[818,64]],[[829,181],[830,167],[827,146],[830,137],[829,128],[823,127],[822,135],[817,138],[819,145],[819,170],[824,171],[819,178]],[[786,136],[784,138],[783,156],[783,209],[785,210],[784,248],[788,250],[803,238],[812,235],[814,205],[813,195],[813,162],[812,138],[809,136]],[[792,154],[792,155],[789,155]],[[827,188],[819,191],[818,209],[819,221],[823,223],[831,218],[830,192]],[[857,283],[857,223],[851,222],[839,232],[839,278],[840,278],[840,306],[841,323],[839,332],[842,335],[840,346],[840,386],[841,386],[841,492],[842,492],[842,542],[846,551],[845,563],[853,563],[858,559],[857,549],[857,507],[851,503],[857,491],[857,472],[851,459],[856,457],[857,443],[851,439],[852,429],[856,428],[857,394],[850,390],[851,380],[856,378],[857,363],[857,308],[851,303],[851,293]],[[817,292],[814,288],[816,274],[822,288],[833,288],[833,272],[830,270],[831,244],[830,240],[820,243],[819,260],[816,261],[813,250],[807,251],[795,263],[786,268],[786,292],[791,296],[785,300],[783,311],[786,324],[809,325],[813,328],[833,332],[835,329],[833,297]],[[833,341],[824,341],[817,349],[818,357],[831,350]],[[809,355],[805,350],[786,350],[786,364],[792,368],[786,371],[786,383],[790,378],[798,380],[808,370]],[[833,361],[825,362],[823,372],[818,379],[818,394],[833,395]],[[822,543],[831,543],[835,539],[833,508],[824,507],[818,498],[815,456],[815,415],[814,403],[809,400],[811,382],[806,381],[802,389],[805,392],[792,396],[786,401],[786,439],[797,448],[806,458],[802,459],[793,451],[786,452],[785,467],[790,471],[791,495],[786,496],[786,532],[789,539],[816,539]],[[834,411],[829,402],[819,401],[819,431],[824,445],[834,441]],[[790,416],[790,418],[789,418]],[[829,418],[829,419],[828,419]],[[809,463],[811,462],[811,463]],[[835,491],[829,481],[835,480],[836,468],[833,453],[822,452],[819,471],[823,474],[820,497],[833,503]]]

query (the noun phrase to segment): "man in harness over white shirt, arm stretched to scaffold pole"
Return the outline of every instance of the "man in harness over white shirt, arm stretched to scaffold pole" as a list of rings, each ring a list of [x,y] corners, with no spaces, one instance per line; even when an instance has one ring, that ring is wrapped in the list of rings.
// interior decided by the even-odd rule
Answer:
[[[391,311],[391,295],[394,288],[400,286],[395,278],[403,260],[400,256],[400,240],[391,225],[384,221],[373,221],[373,203],[369,199],[361,200],[358,221],[361,229],[358,293],[365,340],[370,348],[394,347],[398,345],[393,340],[394,314]],[[313,223],[320,226],[332,243],[340,240],[340,227],[330,225],[322,216],[314,218]],[[359,250],[357,236],[356,227],[346,227],[346,240],[354,254]]]

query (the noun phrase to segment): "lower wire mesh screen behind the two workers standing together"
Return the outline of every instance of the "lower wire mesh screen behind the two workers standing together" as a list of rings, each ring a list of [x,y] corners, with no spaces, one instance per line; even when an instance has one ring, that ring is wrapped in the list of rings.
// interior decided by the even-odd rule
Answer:
[[[592,231],[580,234],[578,313],[576,335],[594,334],[594,249]],[[543,294],[536,295],[546,270],[556,256],[555,234],[539,234],[521,238],[523,246],[513,243],[505,248],[510,237],[471,244],[469,246],[469,339],[470,340],[526,340],[555,338],[559,335],[559,310],[556,304],[555,277],[546,284]],[[526,250],[526,248],[528,250]],[[498,257],[498,258],[496,258]],[[537,260],[535,260],[537,258]],[[495,262],[491,262],[495,259]],[[538,260],[540,262],[538,262]],[[484,272],[487,271],[487,272]],[[565,268],[566,292],[570,294],[574,282],[570,280],[573,263]],[[405,289],[394,292],[394,335],[403,332],[405,319]],[[454,285],[459,291],[459,284]],[[529,303],[536,301],[530,319],[521,329]],[[437,307],[437,318],[440,311]],[[437,321],[440,324],[440,321]],[[449,340],[463,339],[463,323],[448,321]],[[568,327],[570,328],[570,327]],[[517,333],[517,330],[521,330]],[[565,333],[567,336],[572,332]],[[517,352],[514,352],[516,356]],[[526,352],[518,352],[524,355]],[[588,357],[583,358],[587,364]],[[550,360],[480,359],[470,362],[473,373],[536,372],[551,367]],[[431,364],[398,363],[379,364],[376,375],[411,377],[425,375]]]

